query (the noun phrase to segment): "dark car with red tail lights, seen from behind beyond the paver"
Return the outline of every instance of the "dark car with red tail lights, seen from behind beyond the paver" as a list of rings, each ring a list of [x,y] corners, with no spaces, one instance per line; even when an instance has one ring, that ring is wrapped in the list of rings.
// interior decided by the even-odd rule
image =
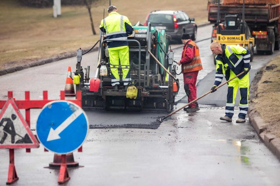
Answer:
[[[150,22],[151,26],[164,29],[168,35],[171,35],[172,40],[181,43],[182,33],[188,33],[192,40],[196,40],[197,25],[194,21],[194,18],[189,18],[183,11],[155,10],[147,15],[144,25],[147,26]]]

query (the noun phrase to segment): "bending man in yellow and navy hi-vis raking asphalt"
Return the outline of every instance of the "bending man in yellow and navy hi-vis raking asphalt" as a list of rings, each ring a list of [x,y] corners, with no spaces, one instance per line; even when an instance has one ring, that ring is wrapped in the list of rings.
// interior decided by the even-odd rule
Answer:
[[[212,53],[216,54],[216,74],[215,82],[211,88],[212,92],[215,92],[217,86],[223,80],[225,76],[226,80],[233,78],[242,71],[242,75],[228,82],[228,95],[227,103],[225,106],[225,116],[220,117],[221,120],[231,122],[231,118],[234,114],[234,100],[238,91],[240,90],[240,102],[239,102],[239,114],[237,123],[245,122],[245,116],[248,112],[248,96],[249,96],[249,70],[250,65],[250,51],[242,46],[237,45],[225,45],[219,42],[212,42],[210,45]]]

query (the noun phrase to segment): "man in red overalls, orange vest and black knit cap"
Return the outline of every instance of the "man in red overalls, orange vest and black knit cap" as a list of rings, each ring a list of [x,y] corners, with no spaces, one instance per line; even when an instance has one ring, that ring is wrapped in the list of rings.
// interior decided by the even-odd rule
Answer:
[[[182,72],[184,78],[184,89],[188,96],[188,101],[191,102],[197,98],[196,96],[196,80],[198,71],[202,70],[202,64],[199,56],[198,46],[191,40],[189,34],[183,33],[181,40],[184,44],[181,60],[177,62],[182,64]],[[189,107],[185,107],[184,111],[195,112],[199,111],[198,103],[192,103]]]

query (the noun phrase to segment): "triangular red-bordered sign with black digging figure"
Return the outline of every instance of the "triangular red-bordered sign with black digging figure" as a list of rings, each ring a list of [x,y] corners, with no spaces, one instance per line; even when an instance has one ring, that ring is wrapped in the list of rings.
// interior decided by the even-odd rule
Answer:
[[[0,148],[38,148],[39,143],[21,115],[15,101],[9,98],[0,113]]]

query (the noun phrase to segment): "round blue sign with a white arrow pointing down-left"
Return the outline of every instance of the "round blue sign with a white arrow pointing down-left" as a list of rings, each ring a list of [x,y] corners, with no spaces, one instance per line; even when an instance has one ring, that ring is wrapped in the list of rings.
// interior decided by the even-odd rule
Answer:
[[[47,103],[36,124],[41,144],[57,154],[70,153],[82,146],[88,128],[88,118],[83,109],[69,101]]]

